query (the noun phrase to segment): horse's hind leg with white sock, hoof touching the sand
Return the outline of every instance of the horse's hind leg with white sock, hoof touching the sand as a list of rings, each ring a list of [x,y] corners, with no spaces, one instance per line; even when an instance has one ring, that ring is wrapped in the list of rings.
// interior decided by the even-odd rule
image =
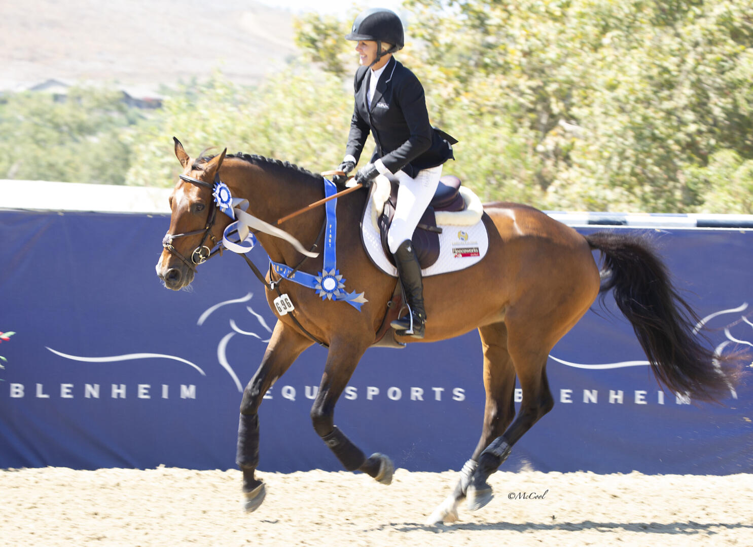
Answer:
[[[430,526],[458,519],[458,506],[465,499],[478,457],[490,442],[505,432],[515,415],[515,369],[507,348],[507,327],[498,323],[480,327],[478,332],[483,347],[483,385],[486,391],[481,438],[471,458],[463,465],[452,494],[426,519]]]

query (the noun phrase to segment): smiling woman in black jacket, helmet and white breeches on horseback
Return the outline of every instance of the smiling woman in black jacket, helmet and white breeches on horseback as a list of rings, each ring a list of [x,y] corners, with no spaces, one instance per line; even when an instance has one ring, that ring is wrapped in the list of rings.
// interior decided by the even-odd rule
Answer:
[[[456,140],[431,127],[419,79],[392,56],[404,45],[403,24],[395,13],[383,8],[363,11],[345,38],[358,42],[355,50],[361,66],[355,72],[355,108],[346,156],[337,169],[346,174],[352,171],[370,131],[377,146],[355,181],[368,187],[378,175],[392,174],[400,183],[387,245],[410,311],[392,321],[392,327],[399,335],[423,338],[426,312],[421,266],[410,239],[437,190],[442,164],[454,159]],[[333,180],[342,183],[344,177]]]

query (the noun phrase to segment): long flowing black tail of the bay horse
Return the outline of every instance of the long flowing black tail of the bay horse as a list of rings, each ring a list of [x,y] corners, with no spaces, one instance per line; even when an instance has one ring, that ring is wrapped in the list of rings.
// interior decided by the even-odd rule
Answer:
[[[679,296],[659,254],[642,236],[596,232],[586,239],[604,260],[599,299],[611,290],[657,380],[675,394],[718,402],[734,394],[740,354],[717,355],[699,335],[701,321]]]

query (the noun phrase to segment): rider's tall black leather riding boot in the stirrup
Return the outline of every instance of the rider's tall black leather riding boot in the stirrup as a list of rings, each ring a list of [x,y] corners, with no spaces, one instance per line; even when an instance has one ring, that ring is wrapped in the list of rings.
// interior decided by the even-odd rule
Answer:
[[[390,326],[397,330],[400,336],[423,338],[426,311],[423,305],[423,281],[421,266],[416,254],[413,253],[413,243],[406,239],[395,251],[395,266],[398,277],[403,285],[403,293],[410,311],[403,318],[395,319]]]

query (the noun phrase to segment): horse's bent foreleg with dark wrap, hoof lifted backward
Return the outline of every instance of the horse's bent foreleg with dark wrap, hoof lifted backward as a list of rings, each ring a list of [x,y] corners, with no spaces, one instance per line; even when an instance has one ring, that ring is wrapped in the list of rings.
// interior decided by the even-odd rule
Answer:
[[[357,344],[353,344],[352,340],[331,343],[322,384],[311,407],[311,421],[316,433],[322,437],[346,470],[363,471],[377,481],[389,485],[395,471],[392,460],[378,452],[366,457],[361,449],[334,425],[334,407],[365,350],[365,347],[359,348]]]

